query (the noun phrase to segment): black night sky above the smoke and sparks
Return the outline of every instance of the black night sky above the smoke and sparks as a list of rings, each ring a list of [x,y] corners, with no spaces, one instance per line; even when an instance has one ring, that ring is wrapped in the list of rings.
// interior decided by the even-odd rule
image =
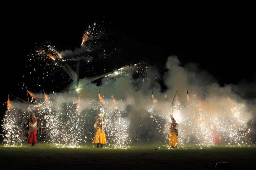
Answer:
[[[104,47],[111,54],[109,60],[95,63],[99,73],[102,68],[113,70],[145,61],[163,75],[167,57],[177,55],[183,64],[198,63],[199,68],[213,75],[221,86],[245,80],[254,83],[255,27],[251,18],[249,11],[236,10],[227,13],[166,11],[163,14],[130,11],[111,15],[94,15],[88,11],[81,14],[70,11],[17,13],[5,18],[1,28],[2,115],[6,109],[2,104],[8,99],[8,93],[26,99],[26,91],[17,88],[17,84],[23,81],[26,56],[33,51],[35,43],[50,41],[58,51],[74,50],[80,47],[84,30],[95,21],[104,21],[106,37],[111,42]],[[33,89],[29,83],[28,86]]]

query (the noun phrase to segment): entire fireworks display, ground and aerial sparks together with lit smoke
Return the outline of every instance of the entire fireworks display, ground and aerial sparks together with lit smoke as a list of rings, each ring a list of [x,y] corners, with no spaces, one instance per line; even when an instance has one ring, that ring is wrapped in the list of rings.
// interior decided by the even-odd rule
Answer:
[[[236,101],[235,97],[229,98],[230,91],[221,87],[198,85],[201,82],[195,83],[195,76],[186,72],[175,57],[169,58],[172,60],[170,65],[168,61],[166,63],[169,71],[164,81],[168,90],[162,93],[156,83],[157,70],[143,62],[117,67],[119,69],[108,73],[104,69],[104,74],[97,78],[91,74],[88,79],[79,79],[79,72],[73,69],[74,63],[69,64],[80,60],[86,64],[94,61],[91,52],[99,50],[94,45],[104,37],[97,26],[94,23],[83,34],[78,52],[59,53],[55,46],[47,44],[36,47],[36,54],[29,56],[29,75],[37,82],[37,89],[44,88],[46,83],[50,86],[56,83],[59,92],[27,90],[30,106],[8,98],[2,124],[5,145],[22,145],[26,141],[32,112],[38,121],[38,139],[60,148],[91,143],[96,132],[93,125],[99,115],[106,122],[106,148],[127,149],[132,144],[145,142],[167,145],[171,114],[179,124],[180,147],[191,144],[210,147],[216,144],[214,133],[217,132],[222,144],[250,144],[248,124],[251,117],[246,104]],[[103,53],[105,58],[105,50]],[[96,80],[100,80],[100,85],[93,83]],[[68,86],[65,92],[62,91],[63,84]],[[152,89],[159,93],[154,95]],[[180,94],[175,95],[171,105],[162,96],[172,98],[176,90]],[[224,91],[222,94],[216,92],[221,90]],[[212,94],[212,91],[216,93]],[[201,100],[201,96],[205,100]]]

